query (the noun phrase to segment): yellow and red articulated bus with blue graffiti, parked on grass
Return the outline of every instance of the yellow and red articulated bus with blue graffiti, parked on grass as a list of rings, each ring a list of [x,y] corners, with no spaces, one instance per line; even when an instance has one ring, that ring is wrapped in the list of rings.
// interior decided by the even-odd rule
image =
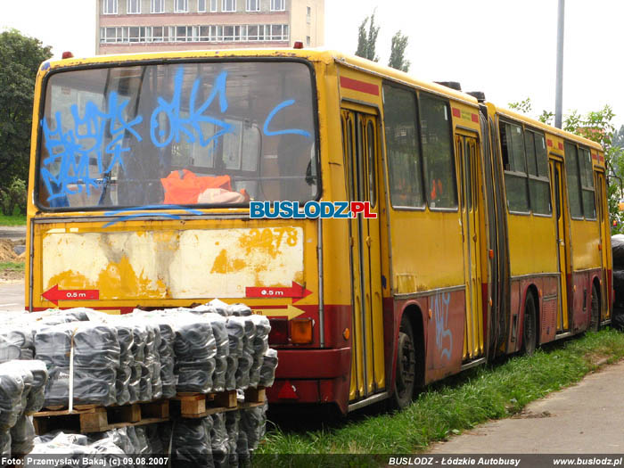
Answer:
[[[244,302],[269,400],[345,413],[608,322],[602,149],[475,95],[321,50],[45,62],[27,308]]]

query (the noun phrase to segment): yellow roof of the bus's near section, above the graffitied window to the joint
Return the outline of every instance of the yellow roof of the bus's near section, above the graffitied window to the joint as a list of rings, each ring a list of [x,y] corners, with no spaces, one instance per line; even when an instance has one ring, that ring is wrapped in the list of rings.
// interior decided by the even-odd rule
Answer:
[[[45,62],[45,69],[58,70],[66,67],[75,67],[80,65],[98,64],[98,63],[123,63],[135,61],[150,60],[173,60],[173,59],[193,59],[207,57],[286,57],[307,59],[312,62],[340,62],[343,65],[365,70],[382,78],[390,78],[395,81],[403,82],[408,85],[422,87],[437,94],[445,94],[448,97],[477,105],[477,100],[470,94],[456,91],[447,86],[438,85],[429,81],[423,81],[408,75],[404,71],[395,70],[377,62],[341,53],[335,50],[314,48],[314,49],[226,49],[226,50],[193,50],[193,51],[173,51],[173,52],[152,52],[152,53],[119,53],[111,55],[97,55],[94,57],[72,57],[70,59],[62,59]]]

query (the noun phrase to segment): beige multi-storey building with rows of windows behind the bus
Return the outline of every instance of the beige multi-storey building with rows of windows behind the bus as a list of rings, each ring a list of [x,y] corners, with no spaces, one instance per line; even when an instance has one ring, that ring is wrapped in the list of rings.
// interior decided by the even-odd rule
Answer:
[[[324,0],[97,0],[95,51],[291,47],[324,42]]]

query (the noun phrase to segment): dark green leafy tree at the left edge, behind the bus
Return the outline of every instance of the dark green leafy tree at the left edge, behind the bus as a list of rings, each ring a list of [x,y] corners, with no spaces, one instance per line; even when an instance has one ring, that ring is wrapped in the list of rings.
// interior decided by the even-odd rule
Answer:
[[[28,180],[35,78],[51,48],[16,29],[0,33],[0,186]]]

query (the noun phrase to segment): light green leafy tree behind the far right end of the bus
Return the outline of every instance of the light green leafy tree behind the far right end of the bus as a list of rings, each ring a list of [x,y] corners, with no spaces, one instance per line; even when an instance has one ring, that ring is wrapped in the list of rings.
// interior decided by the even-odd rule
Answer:
[[[509,107],[528,113],[531,111],[530,98],[521,101],[521,103],[509,103]],[[551,124],[554,114],[550,111],[542,111],[538,119],[546,124]],[[618,144],[620,139],[616,141],[616,135],[624,132],[624,127],[620,128],[620,132],[616,134],[613,125],[615,114],[611,106],[605,105],[599,111],[587,112],[586,115],[579,114],[578,111],[572,111],[569,115],[563,116],[562,129],[576,135],[584,136],[588,140],[592,140],[601,144],[604,149],[604,160],[608,172],[609,186],[607,187],[609,218],[612,225],[612,234],[619,234],[624,231],[624,225],[620,219],[620,209],[618,203],[624,193],[620,193],[620,180],[624,179],[624,149]],[[609,177],[610,176],[610,177]],[[613,221],[618,221],[613,226]]]

